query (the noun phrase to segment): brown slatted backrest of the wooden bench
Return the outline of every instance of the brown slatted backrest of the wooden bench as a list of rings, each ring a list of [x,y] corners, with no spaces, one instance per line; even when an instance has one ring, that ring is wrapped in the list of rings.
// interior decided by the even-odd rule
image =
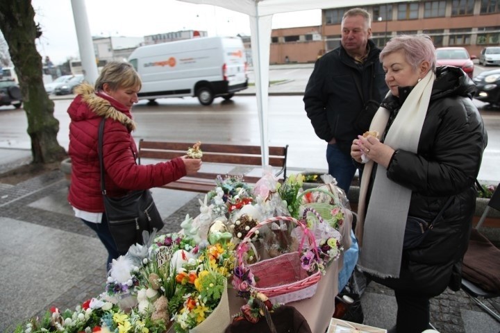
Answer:
[[[139,163],[141,158],[153,160],[172,160],[172,158],[186,155],[192,144],[185,142],[152,142],[141,139],[139,142]],[[203,162],[222,164],[255,165],[262,164],[260,146],[239,146],[233,144],[201,144]],[[280,168],[276,176],[283,173],[286,178],[286,159],[288,145],[269,146],[269,165]],[[203,177],[203,173],[199,173]],[[210,175],[213,177],[213,175]]]

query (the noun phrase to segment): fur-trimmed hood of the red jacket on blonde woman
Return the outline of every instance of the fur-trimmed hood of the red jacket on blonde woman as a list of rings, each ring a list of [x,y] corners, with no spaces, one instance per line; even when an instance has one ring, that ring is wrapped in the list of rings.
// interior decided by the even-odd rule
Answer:
[[[78,87],[75,88],[75,92],[78,96],[76,97],[74,103],[78,103],[78,99],[80,99],[81,102],[88,105],[90,112],[94,113],[95,116],[106,117],[119,121],[126,126],[128,130],[135,130],[135,121],[132,120],[130,110],[125,108],[124,105],[106,95],[99,94],[99,92],[95,91],[92,85],[87,83],[78,85]],[[87,108],[74,108],[73,110],[74,112],[69,112],[69,116],[74,120],[83,120],[94,117],[94,115],[88,114]]]

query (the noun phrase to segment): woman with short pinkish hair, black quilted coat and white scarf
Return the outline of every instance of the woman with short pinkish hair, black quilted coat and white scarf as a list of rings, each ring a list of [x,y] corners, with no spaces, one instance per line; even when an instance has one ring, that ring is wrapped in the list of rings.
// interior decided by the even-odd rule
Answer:
[[[397,326],[390,332],[422,332],[429,299],[460,288],[487,136],[472,103],[474,83],[456,67],[436,69],[428,36],[394,37],[380,59],[390,92],[370,126],[374,133],[351,147],[353,159],[366,163],[358,266],[394,289]],[[429,223],[442,209],[422,243],[403,248],[407,217]]]

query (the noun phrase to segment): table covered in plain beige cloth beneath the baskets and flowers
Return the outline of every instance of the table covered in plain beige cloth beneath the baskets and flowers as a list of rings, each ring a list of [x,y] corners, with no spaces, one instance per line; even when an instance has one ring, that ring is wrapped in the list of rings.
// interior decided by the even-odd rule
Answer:
[[[311,332],[326,332],[331,316],[335,310],[335,296],[338,294],[338,272],[342,268],[342,256],[333,262],[318,282],[316,293],[311,298],[290,302],[287,305],[295,307],[309,324]],[[231,316],[238,314],[240,307],[247,300],[236,296],[235,289],[228,289],[229,309]],[[215,333],[215,332],[214,332]]]

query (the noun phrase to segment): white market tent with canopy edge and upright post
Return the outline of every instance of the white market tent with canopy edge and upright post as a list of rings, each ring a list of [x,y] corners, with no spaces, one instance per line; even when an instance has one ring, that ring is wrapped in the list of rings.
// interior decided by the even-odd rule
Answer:
[[[267,165],[268,133],[267,111],[269,97],[269,49],[271,44],[272,16],[280,12],[299,10],[369,6],[397,0],[178,0],[202,5],[213,5],[242,12],[250,17],[253,71],[256,78],[257,110],[260,126],[260,146],[263,166]],[[412,1],[412,0],[410,0]],[[340,31],[339,31],[340,33]]]

